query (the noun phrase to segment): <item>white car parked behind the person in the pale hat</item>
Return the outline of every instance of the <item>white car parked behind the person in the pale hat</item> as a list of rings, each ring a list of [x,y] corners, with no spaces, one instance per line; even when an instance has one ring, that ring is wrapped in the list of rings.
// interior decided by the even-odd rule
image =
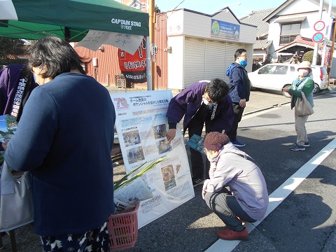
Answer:
[[[290,86],[297,78],[297,67],[298,64],[266,64],[260,69],[248,73],[248,78],[251,80],[252,87],[283,92],[283,87]],[[312,65],[311,69],[315,83],[314,94],[328,88],[328,74],[325,67]],[[288,92],[283,92],[283,95],[290,98]]]

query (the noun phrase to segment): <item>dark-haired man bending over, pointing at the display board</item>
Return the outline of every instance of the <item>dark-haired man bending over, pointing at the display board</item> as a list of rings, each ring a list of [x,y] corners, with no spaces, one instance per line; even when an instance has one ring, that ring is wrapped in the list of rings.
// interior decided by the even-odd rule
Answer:
[[[183,134],[188,128],[189,138],[193,134],[202,135],[204,123],[206,132],[228,132],[233,122],[232,101],[228,96],[229,86],[220,78],[202,80],[190,85],[169,102],[167,118],[169,130],[167,140],[172,141],[176,134],[176,124],[183,118]],[[193,184],[204,181],[202,154],[190,148]],[[209,178],[209,169],[206,169]]]

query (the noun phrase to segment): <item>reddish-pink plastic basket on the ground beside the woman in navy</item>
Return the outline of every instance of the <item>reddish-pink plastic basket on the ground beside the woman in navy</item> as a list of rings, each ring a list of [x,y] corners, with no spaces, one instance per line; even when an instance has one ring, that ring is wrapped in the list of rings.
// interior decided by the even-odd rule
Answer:
[[[110,251],[132,248],[138,237],[138,209],[123,214],[112,214],[107,220],[110,236]]]

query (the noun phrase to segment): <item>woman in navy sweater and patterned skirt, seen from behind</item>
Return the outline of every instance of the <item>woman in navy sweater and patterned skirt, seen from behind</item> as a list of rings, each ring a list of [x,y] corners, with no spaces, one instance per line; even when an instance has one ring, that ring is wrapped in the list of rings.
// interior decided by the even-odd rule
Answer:
[[[108,90],[85,75],[82,63],[60,38],[32,46],[29,66],[40,86],[5,146],[8,166],[30,171],[34,230],[44,251],[109,251],[116,113]]]

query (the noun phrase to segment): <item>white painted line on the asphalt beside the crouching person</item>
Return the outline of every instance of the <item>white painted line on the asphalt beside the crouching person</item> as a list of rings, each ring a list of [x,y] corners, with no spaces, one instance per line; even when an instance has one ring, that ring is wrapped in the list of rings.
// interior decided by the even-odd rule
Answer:
[[[297,186],[304,181],[304,179],[314,171],[318,165],[321,164],[325,158],[332,153],[333,150],[336,148],[336,139],[333,139],[327,146],[325,146],[320,152],[314,155],[311,160],[305,163],[300,169],[295,172],[290,178],[288,178],[279,188],[274,190],[273,193],[269,195],[269,204],[266,211],[266,214],[263,219],[265,219],[276,207],[286,199],[290,193],[297,188]],[[261,221],[262,221],[261,220]],[[245,227],[250,233],[252,230],[255,229],[256,226],[259,225],[261,221],[257,221],[255,223],[245,223]],[[210,248],[206,250],[206,252],[230,252],[232,251],[240,241],[225,241],[223,239],[218,239]]]

